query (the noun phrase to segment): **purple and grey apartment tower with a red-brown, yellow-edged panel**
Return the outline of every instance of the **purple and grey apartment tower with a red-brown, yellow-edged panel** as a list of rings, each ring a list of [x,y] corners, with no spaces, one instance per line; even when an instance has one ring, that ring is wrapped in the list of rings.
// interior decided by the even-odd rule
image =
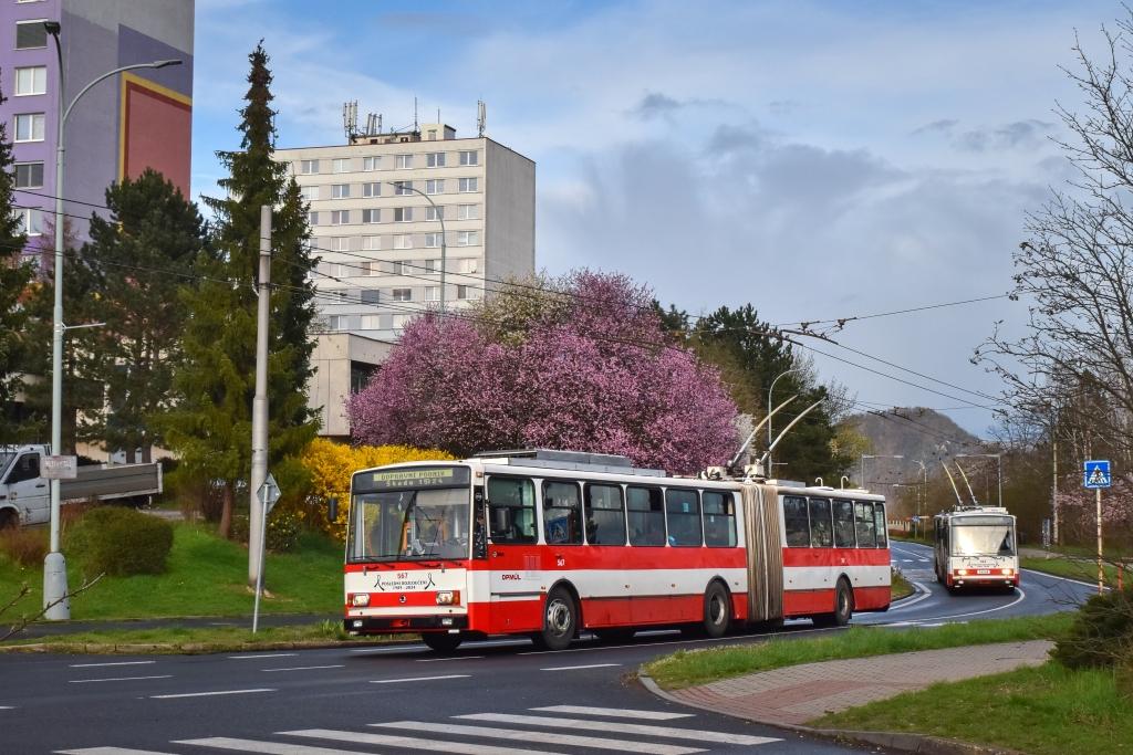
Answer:
[[[146,168],[189,196],[193,103],[193,0],[0,0],[0,119],[14,141],[16,204],[29,242],[51,248],[54,212],[59,63],[44,22],[60,25],[63,108],[94,79],[122,66],[181,60],[136,69],[94,85],[66,125],[62,195],[78,239],[108,186]]]

